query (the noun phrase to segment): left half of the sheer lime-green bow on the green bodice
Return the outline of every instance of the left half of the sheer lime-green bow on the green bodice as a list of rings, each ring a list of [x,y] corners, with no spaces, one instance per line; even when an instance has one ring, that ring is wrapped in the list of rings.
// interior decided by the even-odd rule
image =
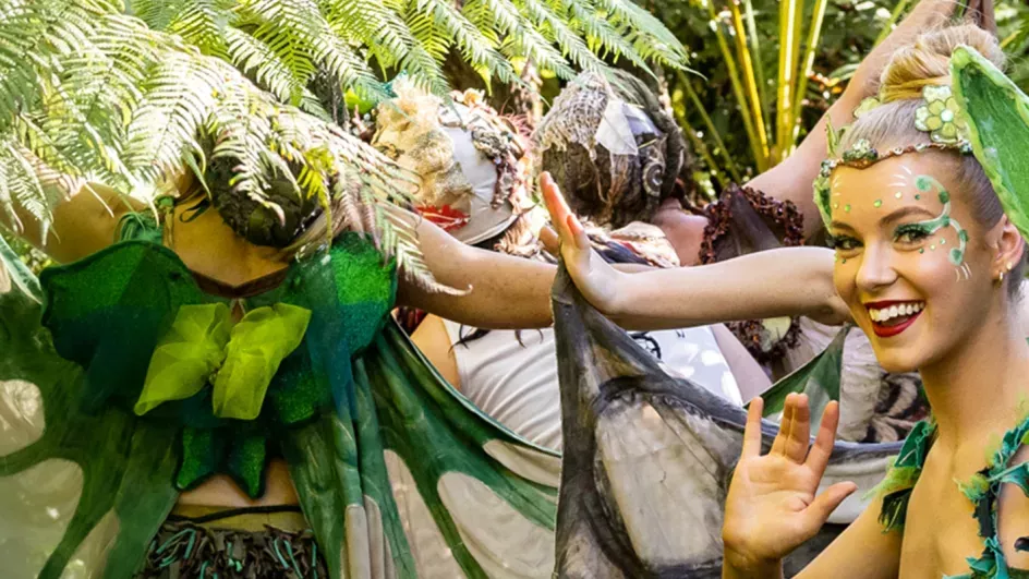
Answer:
[[[180,307],[150,357],[135,413],[143,415],[162,402],[201,391],[226,358],[231,326],[232,314],[223,303]]]

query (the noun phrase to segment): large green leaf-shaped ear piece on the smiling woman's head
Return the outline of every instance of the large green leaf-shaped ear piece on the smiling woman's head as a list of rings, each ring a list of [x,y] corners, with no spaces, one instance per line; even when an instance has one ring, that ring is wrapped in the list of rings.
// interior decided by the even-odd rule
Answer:
[[[951,77],[972,154],[993,183],[1004,213],[1029,238],[1029,96],[966,46],[951,58]]]

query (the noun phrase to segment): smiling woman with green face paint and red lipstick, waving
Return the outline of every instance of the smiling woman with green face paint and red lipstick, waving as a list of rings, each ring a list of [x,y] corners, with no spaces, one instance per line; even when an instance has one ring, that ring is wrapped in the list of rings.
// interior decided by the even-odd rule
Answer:
[[[814,189],[836,290],[883,367],[919,371],[933,418],[912,430],[872,506],[801,577],[1029,576],[1019,569],[1029,567],[1029,485],[1013,475],[1029,470],[1018,310],[1029,97],[1002,64],[981,29],[927,33],[894,55],[854,124],[830,135],[839,158],[822,165]],[[835,415],[826,411],[809,453],[807,400],[792,397],[760,456],[754,406],[726,504],[724,577],[777,572],[854,491],[814,496]]]

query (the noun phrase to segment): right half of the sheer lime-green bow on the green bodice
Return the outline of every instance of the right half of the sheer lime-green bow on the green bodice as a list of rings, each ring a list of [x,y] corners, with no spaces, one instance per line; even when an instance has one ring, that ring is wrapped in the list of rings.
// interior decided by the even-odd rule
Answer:
[[[215,414],[254,420],[282,360],[304,338],[311,311],[277,303],[249,312],[229,340],[225,365],[215,378]]]

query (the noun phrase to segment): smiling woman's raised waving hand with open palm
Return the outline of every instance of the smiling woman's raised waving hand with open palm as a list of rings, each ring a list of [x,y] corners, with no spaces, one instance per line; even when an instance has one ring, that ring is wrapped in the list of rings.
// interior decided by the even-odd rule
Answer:
[[[808,397],[786,398],[772,450],[761,455],[761,398],[750,403],[743,449],[729,485],[722,536],[728,565],[760,567],[778,562],[814,536],[830,514],[857,486],[838,483],[815,496],[836,438],[839,406],[830,402],[810,451]]]

